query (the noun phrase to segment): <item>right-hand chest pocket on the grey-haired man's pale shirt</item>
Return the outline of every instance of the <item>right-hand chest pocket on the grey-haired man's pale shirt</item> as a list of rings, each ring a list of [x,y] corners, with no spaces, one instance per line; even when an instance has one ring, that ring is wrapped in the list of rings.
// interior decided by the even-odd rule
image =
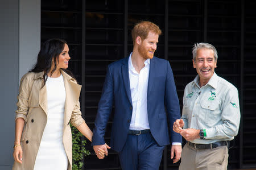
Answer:
[[[204,119],[204,122],[214,122],[217,121],[218,119],[221,119],[221,110],[220,110],[220,102],[215,99],[214,101],[212,100],[207,100],[201,102],[201,111],[200,115],[201,118]],[[209,125],[210,126],[210,125]]]

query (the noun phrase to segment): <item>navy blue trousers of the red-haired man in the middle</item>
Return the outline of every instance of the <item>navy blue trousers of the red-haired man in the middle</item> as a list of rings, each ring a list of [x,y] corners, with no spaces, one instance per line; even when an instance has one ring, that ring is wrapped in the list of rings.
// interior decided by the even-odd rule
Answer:
[[[150,132],[128,135],[125,146],[119,152],[122,170],[159,169],[164,146],[159,146]]]

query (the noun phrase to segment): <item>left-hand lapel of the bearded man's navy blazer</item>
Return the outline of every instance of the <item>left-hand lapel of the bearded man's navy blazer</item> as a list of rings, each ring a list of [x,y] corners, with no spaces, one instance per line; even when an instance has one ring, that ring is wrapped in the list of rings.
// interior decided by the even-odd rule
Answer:
[[[130,79],[129,79],[129,67],[128,67],[128,59],[129,57],[126,57],[123,60],[123,65],[122,65],[122,77],[123,77],[123,85],[125,86],[125,92],[126,95],[131,102],[131,88],[130,88]]]

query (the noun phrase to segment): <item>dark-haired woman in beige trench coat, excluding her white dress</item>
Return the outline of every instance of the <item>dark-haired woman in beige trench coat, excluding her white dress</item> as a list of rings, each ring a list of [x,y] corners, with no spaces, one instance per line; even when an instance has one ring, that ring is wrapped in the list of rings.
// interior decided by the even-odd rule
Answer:
[[[15,117],[14,170],[34,169],[40,142],[47,125],[46,82],[49,77],[63,76],[65,102],[61,128],[63,128],[62,142],[68,160],[68,170],[72,169],[72,134],[69,122],[87,139],[92,140],[92,131],[81,117],[79,103],[81,85],[78,85],[72,73],[67,71],[68,61],[71,59],[68,51],[68,45],[64,40],[47,40],[40,49],[35,67],[20,80],[18,109]],[[105,151],[99,150],[96,155],[99,159],[103,159]]]

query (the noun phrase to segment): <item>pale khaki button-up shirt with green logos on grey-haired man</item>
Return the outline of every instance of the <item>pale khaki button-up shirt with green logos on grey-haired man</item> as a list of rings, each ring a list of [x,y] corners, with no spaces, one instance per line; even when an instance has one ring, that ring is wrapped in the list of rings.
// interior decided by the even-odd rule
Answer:
[[[237,88],[216,73],[200,88],[197,75],[185,87],[181,118],[185,123],[183,128],[206,130],[207,136],[191,141],[193,143],[234,139],[240,124]]]

